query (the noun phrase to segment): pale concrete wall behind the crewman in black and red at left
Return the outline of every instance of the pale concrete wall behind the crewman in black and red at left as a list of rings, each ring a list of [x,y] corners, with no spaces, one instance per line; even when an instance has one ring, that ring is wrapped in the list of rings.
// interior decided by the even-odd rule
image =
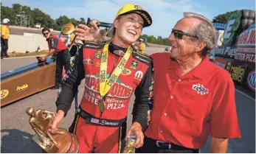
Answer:
[[[40,46],[40,49],[48,50],[46,38],[43,36],[24,36],[24,35],[10,35],[8,52],[35,52]]]

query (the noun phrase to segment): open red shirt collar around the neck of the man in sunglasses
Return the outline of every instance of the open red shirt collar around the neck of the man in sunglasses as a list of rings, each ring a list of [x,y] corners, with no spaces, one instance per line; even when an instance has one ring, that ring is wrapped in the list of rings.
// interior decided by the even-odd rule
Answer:
[[[199,63],[198,66],[196,66],[193,70],[191,70],[193,77],[202,79],[204,75],[207,75],[212,71],[211,65],[212,65],[212,62],[210,62],[209,57],[208,56],[204,57],[201,63]],[[170,60],[168,69],[179,70],[180,69],[179,63],[174,59]]]

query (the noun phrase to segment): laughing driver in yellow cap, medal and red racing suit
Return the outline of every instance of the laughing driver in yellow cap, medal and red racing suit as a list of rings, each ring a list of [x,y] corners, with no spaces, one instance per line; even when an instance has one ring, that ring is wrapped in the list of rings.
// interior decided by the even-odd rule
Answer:
[[[136,136],[134,147],[142,147],[143,131],[153,97],[153,66],[149,57],[131,46],[152,24],[151,16],[136,4],[125,4],[114,19],[114,36],[109,41],[83,43],[72,60],[60,86],[57,114],[49,130],[55,133],[85,79],[85,91],[70,131],[80,144],[79,153],[122,153],[125,141],[128,103],[135,94],[133,124],[126,134]],[[97,26],[83,29],[97,29]],[[94,38],[100,33],[95,30]],[[78,35],[83,40],[83,35]]]

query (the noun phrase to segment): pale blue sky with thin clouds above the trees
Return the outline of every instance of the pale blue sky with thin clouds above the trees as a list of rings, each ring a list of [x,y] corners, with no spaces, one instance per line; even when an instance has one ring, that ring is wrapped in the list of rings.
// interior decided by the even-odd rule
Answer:
[[[210,20],[218,14],[232,10],[255,10],[255,0],[2,0],[3,6],[18,3],[39,8],[52,18],[66,15],[69,18],[97,18],[112,23],[117,11],[126,3],[139,4],[153,18],[151,27],[142,34],[167,38],[183,12],[200,13]]]

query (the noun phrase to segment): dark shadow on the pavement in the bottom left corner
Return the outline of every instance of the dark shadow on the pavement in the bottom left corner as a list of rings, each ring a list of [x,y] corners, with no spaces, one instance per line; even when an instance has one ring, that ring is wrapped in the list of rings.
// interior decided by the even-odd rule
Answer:
[[[1,130],[1,153],[42,153],[32,134],[21,130]]]

